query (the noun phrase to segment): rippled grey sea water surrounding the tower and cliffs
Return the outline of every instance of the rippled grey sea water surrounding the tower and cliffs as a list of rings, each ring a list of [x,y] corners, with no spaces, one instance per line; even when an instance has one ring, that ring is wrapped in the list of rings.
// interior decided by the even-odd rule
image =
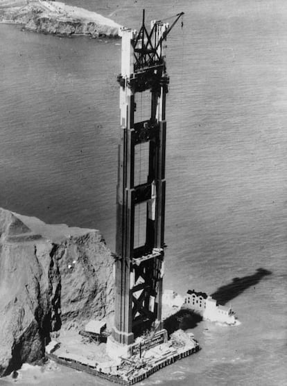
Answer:
[[[287,385],[286,1],[67,3],[133,28],[142,8],[185,12],[167,48],[164,286],[217,293],[241,324],[201,322],[200,353],[141,385]],[[111,249],[120,50],[0,25],[0,206],[100,229]],[[108,384],[64,368],[38,383]]]

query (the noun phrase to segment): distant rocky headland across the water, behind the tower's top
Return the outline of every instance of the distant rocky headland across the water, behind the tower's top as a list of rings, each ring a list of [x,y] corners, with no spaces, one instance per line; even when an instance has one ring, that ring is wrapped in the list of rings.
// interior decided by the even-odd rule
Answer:
[[[121,28],[96,12],[45,0],[0,0],[0,23],[21,24],[24,30],[63,37],[116,38]]]

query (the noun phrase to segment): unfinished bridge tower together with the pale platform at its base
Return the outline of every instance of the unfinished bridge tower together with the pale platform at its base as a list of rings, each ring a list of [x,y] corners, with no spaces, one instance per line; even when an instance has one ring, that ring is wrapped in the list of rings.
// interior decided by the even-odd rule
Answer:
[[[139,33],[122,30],[112,334],[110,328],[105,331],[105,319],[92,319],[80,331],[84,340],[75,332],[46,346],[46,356],[61,365],[121,385],[134,385],[200,349],[192,333],[170,330],[168,340],[162,328],[168,92],[164,41],[181,16],[171,26],[152,21],[148,31],[143,12]],[[141,338],[134,342],[137,336]],[[110,358],[98,342],[107,342]]]

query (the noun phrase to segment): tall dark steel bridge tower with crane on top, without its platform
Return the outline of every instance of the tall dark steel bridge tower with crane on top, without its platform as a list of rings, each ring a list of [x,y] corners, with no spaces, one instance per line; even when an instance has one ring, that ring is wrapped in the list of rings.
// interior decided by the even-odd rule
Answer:
[[[168,75],[163,42],[180,18],[169,26],[144,21],[136,30],[122,30],[119,169],[116,196],[115,315],[112,337],[129,345],[134,335],[162,326],[162,279],[164,274],[164,211],[166,157],[166,93]],[[148,116],[135,120],[137,97],[148,91]],[[148,168],[137,184],[137,146],[147,143]],[[141,161],[141,160],[140,160]],[[141,245],[135,243],[137,208],[141,207]]]

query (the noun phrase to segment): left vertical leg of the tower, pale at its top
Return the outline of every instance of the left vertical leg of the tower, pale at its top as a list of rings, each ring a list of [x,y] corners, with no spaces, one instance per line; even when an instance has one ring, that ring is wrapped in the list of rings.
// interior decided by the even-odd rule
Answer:
[[[115,261],[115,313],[112,335],[116,342],[131,344],[132,297],[130,294],[130,261],[134,243],[134,94],[128,87],[133,71],[133,51],[131,40],[134,31],[123,30],[121,75],[125,87],[120,87],[121,130],[119,139],[119,170],[116,196],[116,256]]]

